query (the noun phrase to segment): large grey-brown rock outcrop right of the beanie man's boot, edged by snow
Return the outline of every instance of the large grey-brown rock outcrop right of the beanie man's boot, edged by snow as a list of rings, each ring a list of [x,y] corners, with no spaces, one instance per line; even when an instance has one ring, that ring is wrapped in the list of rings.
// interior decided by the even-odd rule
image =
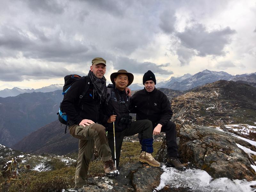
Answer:
[[[256,151],[250,143],[212,127],[196,124],[177,125],[179,154],[183,163],[190,168],[208,172],[212,178],[256,180],[248,155],[237,146],[240,144]],[[156,159],[166,161],[166,147],[163,142]]]

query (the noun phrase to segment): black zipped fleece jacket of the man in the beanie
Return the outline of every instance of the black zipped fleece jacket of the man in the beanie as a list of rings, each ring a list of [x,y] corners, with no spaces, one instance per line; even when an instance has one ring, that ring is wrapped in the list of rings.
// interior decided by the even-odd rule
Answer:
[[[131,113],[136,113],[136,120],[149,119],[153,127],[158,123],[164,126],[173,114],[170,101],[156,87],[152,92],[147,92],[144,88],[134,93],[129,109]]]

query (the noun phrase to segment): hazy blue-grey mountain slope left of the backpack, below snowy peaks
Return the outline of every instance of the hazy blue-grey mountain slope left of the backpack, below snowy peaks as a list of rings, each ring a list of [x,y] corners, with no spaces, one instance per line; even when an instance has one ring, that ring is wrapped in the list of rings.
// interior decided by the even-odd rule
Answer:
[[[62,90],[0,97],[0,143],[11,146],[57,119]]]

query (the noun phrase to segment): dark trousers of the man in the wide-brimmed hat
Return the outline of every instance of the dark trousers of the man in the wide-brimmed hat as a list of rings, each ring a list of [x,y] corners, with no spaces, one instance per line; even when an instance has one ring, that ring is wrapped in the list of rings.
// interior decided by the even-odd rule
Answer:
[[[124,136],[132,136],[137,133],[143,134],[142,139],[151,139],[153,138],[152,122],[149,120],[139,120],[133,121],[131,125],[123,130],[122,132],[115,132],[116,138],[116,167],[119,165],[120,152],[124,140]],[[112,159],[115,162],[115,151],[114,151],[114,133],[108,131],[108,145],[111,149]]]

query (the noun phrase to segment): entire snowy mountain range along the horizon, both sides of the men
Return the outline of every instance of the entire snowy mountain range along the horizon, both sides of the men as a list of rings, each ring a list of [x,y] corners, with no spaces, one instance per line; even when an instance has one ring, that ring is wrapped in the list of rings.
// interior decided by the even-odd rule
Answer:
[[[244,81],[250,83],[256,83],[256,72],[251,74],[242,74],[232,76],[224,71],[210,71],[204,70],[195,75],[191,75],[189,73],[180,76],[180,77],[171,77],[167,81],[156,81],[156,87],[163,87],[178,91],[186,91],[192,89],[194,87],[204,85],[207,83],[212,83],[219,80],[228,80],[228,81]],[[111,82],[107,82],[107,84],[111,84]],[[18,87],[14,87],[12,89],[4,89],[0,91],[0,97],[9,97],[9,96],[17,96],[20,93],[28,93],[28,92],[52,92],[56,90],[62,90],[63,84],[52,84],[47,87],[42,87],[40,89],[20,89]],[[134,83],[129,86],[129,88],[134,90],[141,90],[144,88],[142,83]]]

